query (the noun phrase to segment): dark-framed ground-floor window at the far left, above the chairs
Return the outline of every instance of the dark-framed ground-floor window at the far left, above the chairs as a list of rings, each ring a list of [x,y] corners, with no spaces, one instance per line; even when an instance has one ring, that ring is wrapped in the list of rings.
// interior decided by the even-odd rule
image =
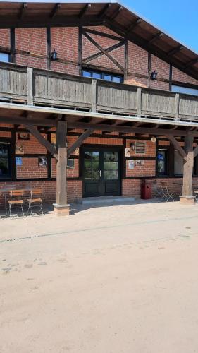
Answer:
[[[11,177],[11,144],[0,141],[0,179]]]

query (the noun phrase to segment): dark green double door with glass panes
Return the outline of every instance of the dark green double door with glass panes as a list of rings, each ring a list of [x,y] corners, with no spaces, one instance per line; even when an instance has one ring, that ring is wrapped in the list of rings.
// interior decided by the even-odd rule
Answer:
[[[120,152],[118,150],[84,150],[83,196],[120,195]]]

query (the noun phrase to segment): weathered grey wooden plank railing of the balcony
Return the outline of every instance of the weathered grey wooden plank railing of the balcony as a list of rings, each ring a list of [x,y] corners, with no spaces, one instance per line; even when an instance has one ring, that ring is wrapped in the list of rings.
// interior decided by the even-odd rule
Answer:
[[[0,100],[198,123],[198,97],[0,63]]]

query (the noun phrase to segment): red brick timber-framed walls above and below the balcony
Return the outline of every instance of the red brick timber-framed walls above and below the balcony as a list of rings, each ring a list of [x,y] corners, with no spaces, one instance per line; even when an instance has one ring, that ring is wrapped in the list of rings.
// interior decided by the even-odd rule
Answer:
[[[54,54],[57,55],[55,59]],[[107,80],[112,85],[124,83],[198,96],[196,78],[118,35],[106,25],[2,28],[0,61]],[[119,114],[119,102],[116,104]],[[120,125],[125,126],[122,121]],[[140,124],[135,121],[132,126]],[[149,133],[123,133],[116,128],[115,131],[106,131],[105,124],[103,131],[94,129],[68,159],[68,202],[89,196],[138,198],[142,179],[159,183],[166,180],[170,187],[173,181],[182,179],[183,159],[180,153],[165,135],[154,138],[152,128],[155,127],[157,124],[151,126]],[[56,145],[56,128],[41,126],[39,131],[49,143]],[[68,128],[68,148],[83,131],[82,128]],[[178,141],[184,147],[183,138]],[[194,140],[194,147],[196,145]],[[11,183],[42,186],[44,201],[56,201],[56,158],[23,124],[0,124],[0,153],[1,186]],[[193,174],[198,178],[197,157]],[[174,190],[180,193],[180,186],[174,186]],[[1,205],[4,205],[2,195]]]

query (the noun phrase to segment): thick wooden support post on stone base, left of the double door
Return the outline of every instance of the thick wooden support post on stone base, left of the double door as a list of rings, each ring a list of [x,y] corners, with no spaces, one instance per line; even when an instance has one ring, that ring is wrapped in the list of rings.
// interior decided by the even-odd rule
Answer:
[[[58,162],[56,164],[56,215],[69,215],[70,205],[67,203],[66,168],[67,168],[67,122],[58,120],[56,126],[56,146]]]

